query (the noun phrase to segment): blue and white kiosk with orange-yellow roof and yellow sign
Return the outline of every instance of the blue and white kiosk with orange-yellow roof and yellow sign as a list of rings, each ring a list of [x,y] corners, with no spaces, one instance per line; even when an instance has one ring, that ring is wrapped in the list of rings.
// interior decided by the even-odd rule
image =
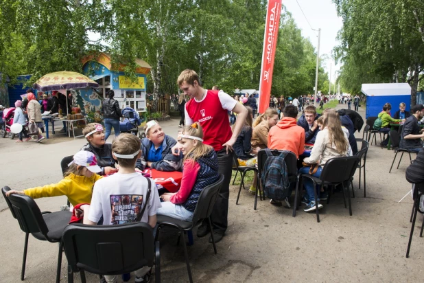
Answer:
[[[107,98],[110,89],[115,91],[115,100],[121,109],[129,106],[141,115],[147,111],[146,75],[152,67],[141,59],[136,59],[135,63],[137,81],[133,82],[123,72],[126,65],[113,65],[110,54],[97,52],[82,59],[84,73],[99,84],[97,88],[75,91],[74,104],[87,115],[88,122],[101,122],[102,100]]]

